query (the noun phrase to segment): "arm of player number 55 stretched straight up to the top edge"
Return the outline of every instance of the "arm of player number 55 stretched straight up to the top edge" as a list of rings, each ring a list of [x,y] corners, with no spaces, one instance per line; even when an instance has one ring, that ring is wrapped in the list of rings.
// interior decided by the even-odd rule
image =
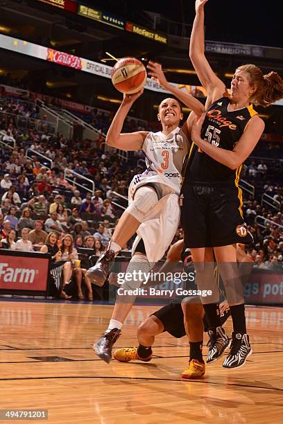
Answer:
[[[224,83],[216,76],[205,58],[205,11],[204,6],[207,0],[196,0],[196,17],[191,31],[189,44],[189,58],[194,65],[198,78],[205,87],[209,96],[212,96],[212,103],[227,95]]]

